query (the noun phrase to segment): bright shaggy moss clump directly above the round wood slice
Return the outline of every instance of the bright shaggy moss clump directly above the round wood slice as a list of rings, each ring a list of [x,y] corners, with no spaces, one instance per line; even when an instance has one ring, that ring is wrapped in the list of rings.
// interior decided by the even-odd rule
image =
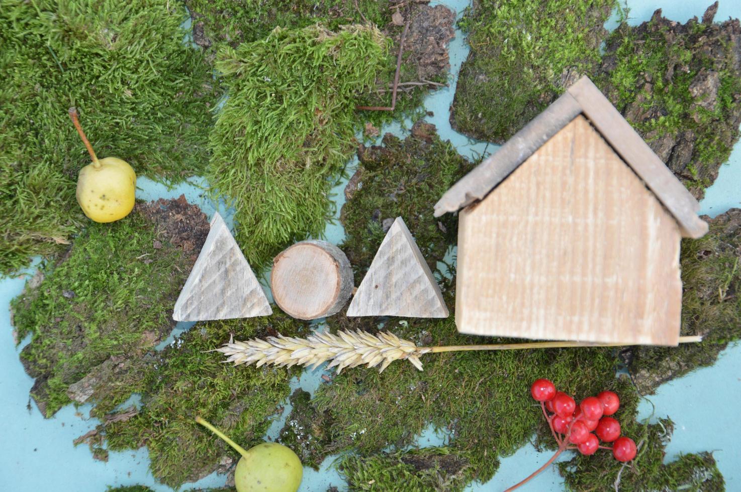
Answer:
[[[355,95],[373,84],[387,53],[378,30],[357,25],[276,29],[220,52],[229,98],[207,175],[236,209],[236,240],[253,268],[324,230],[330,177],[354,148]]]

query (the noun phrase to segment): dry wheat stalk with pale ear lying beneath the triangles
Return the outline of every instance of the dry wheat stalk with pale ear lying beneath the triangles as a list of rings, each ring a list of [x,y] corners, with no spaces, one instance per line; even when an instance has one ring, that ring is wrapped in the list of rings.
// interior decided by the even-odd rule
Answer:
[[[679,343],[700,342],[702,337],[679,337]],[[367,331],[338,331],[315,333],[306,338],[268,337],[265,340],[253,338],[246,342],[235,342],[230,338],[215,351],[227,355],[227,363],[264,364],[291,367],[309,366],[311,370],[331,360],[328,369],[336,367],[337,374],[344,368],[368,365],[369,368],[381,365],[383,372],[394,360],[406,359],[422,371],[419,356],[428,353],[470,351],[470,350],[519,350],[525,348],[564,348],[564,347],[614,347],[620,343],[581,343],[581,342],[531,342],[499,343],[496,345],[456,345],[438,347],[418,347],[409,340],[402,340],[393,333],[385,331],[377,335]]]

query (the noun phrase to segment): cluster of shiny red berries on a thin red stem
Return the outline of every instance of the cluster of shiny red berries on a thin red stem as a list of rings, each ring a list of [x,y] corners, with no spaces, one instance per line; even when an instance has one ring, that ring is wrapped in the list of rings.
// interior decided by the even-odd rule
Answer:
[[[507,491],[528,482],[567,449],[576,449],[585,455],[594,454],[598,449],[609,449],[620,462],[628,462],[636,457],[636,443],[630,437],[620,436],[620,422],[610,417],[620,407],[620,399],[613,391],[602,391],[597,397],[587,397],[577,406],[574,398],[556,391],[551,381],[536,380],[530,387],[530,394],[540,402],[559,448],[545,465]],[[601,445],[600,441],[612,442],[612,447]]]

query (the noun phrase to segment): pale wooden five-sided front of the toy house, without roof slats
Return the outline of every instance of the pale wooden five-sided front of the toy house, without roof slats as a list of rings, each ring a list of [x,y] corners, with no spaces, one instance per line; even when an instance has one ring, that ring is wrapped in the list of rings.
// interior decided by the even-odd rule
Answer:
[[[456,326],[677,345],[677,221],[582,116],[460,214]]]

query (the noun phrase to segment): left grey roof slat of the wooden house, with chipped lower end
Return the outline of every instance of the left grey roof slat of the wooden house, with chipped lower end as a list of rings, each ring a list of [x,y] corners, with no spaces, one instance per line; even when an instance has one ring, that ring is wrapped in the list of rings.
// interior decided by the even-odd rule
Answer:
[[[580,112],[582,108],[579,103],[565,92],[533,121],[516,132],[499,150],[451,186],[435,203],[435,217],[446,212],[457,212],[476,200],[482,200],[494,186]]]

